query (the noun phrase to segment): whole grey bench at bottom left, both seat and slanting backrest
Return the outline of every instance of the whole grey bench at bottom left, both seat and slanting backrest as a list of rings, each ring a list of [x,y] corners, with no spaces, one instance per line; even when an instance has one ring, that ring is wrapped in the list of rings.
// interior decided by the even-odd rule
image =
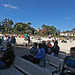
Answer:
[[[18,56],[15,57],[10,68],[0,70],[0,75],[52,75],[51,72],[44,70],[40,66],[33,64]]]

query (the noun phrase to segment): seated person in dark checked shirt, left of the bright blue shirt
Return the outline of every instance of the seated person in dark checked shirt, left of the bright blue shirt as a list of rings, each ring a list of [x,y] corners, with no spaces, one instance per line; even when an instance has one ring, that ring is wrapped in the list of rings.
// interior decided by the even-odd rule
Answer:
[[[33,44],[33,47],[30,49],[28,55],[22,56],[22,58],[30,60],[31,57],[34,57],[37,54],[38,48],[37,43]]]

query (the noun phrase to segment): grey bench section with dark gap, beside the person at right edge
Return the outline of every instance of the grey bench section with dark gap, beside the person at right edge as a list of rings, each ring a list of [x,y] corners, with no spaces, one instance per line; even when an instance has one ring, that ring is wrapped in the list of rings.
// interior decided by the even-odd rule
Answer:
[[[60,71],[62,70],[62,65],[63,65],[63,60],[59,59],[58,57],[46,54],[45,55],[45,61],[48,61],[49,66],[47,67],[47,69],[51,72],[51,73],[60,73]]]

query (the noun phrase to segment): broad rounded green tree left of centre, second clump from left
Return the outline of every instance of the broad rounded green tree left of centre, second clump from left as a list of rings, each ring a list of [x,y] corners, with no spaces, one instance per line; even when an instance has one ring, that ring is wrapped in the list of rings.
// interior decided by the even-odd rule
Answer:
[[[29,26],[30,24],[31,24],[30,22],[28,22],[27,24],[22,23],[22,22],[16,23],[13,28],[14,32],[28,33],[28,34],[31,33],[32,34],[32,33],[34,33],[34,28],[30,27]]]

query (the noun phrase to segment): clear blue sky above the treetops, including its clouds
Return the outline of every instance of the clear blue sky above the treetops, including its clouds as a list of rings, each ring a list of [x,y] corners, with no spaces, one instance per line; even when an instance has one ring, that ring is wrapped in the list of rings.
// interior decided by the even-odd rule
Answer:
[[[60,31],[75,28],[75,0],[0,0],[0,21],[31,22],[37,29],[43,24]]]

